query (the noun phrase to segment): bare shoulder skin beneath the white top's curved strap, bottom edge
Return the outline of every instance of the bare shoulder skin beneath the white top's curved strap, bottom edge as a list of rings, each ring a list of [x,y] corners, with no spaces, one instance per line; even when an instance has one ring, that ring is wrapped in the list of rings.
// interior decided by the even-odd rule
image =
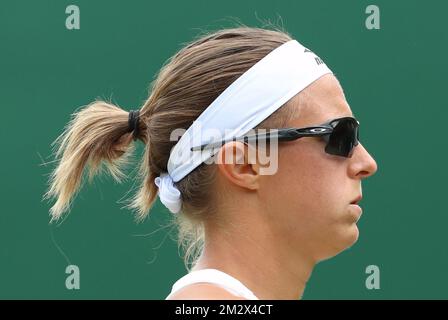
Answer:
[[[246,300],[208,283],[195,283],[182,288],[167,300]]]

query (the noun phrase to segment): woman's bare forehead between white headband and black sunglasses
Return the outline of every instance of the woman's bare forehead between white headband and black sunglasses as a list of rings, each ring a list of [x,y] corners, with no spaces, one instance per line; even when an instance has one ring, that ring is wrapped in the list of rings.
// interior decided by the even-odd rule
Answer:
[[[320,124],[328,120],[353,116],[339,81],[327,74],[310,84],[297,97],[298,117],[291,126]]]

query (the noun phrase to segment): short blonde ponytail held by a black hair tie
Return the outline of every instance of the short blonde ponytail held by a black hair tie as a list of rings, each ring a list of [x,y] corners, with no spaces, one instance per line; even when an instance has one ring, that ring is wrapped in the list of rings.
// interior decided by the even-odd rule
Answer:
[[[130,118],[129,112],[104,101],[92,102],[72,115],[64,132],[52,143],[58,164],[44,195],[44,199],[56,198],[50,209],[52,221],[70,209],[86,167],[89,182],[102,171],[103,163],[117,182],[125,178],[122,170],[134,151],[132,141],[145,141],[141,134],[145,130],[129,130]],[[144,121],[138,126],[142,124]]]

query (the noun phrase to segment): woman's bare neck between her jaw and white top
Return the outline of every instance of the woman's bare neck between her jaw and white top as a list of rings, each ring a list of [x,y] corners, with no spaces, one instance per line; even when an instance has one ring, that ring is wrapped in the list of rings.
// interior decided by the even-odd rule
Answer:
[[[300,299],[315,262],[269,228],[206,224],[202,255],[192,271],[218,269],[241,281],[259,299]],[[263,230],[264,229],[264,230]]]

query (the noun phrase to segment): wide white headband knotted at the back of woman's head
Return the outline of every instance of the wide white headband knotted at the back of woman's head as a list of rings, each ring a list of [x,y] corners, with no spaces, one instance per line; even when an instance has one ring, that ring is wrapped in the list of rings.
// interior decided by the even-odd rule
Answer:
[[[220,140],[244,135],[327,73],[332,72],[326,64],[296,40],[288,41],[267,54],[226,88],[173,147],[168,173],[162,173],[154,180],[159,188],[160,201],[172,213],[179,212],[182,200],[174,182],[219,151],[219,148],[212,152],[190,150],[193,146],[210,142],[207,136],[201,136],[201,131],[218,131]]]

